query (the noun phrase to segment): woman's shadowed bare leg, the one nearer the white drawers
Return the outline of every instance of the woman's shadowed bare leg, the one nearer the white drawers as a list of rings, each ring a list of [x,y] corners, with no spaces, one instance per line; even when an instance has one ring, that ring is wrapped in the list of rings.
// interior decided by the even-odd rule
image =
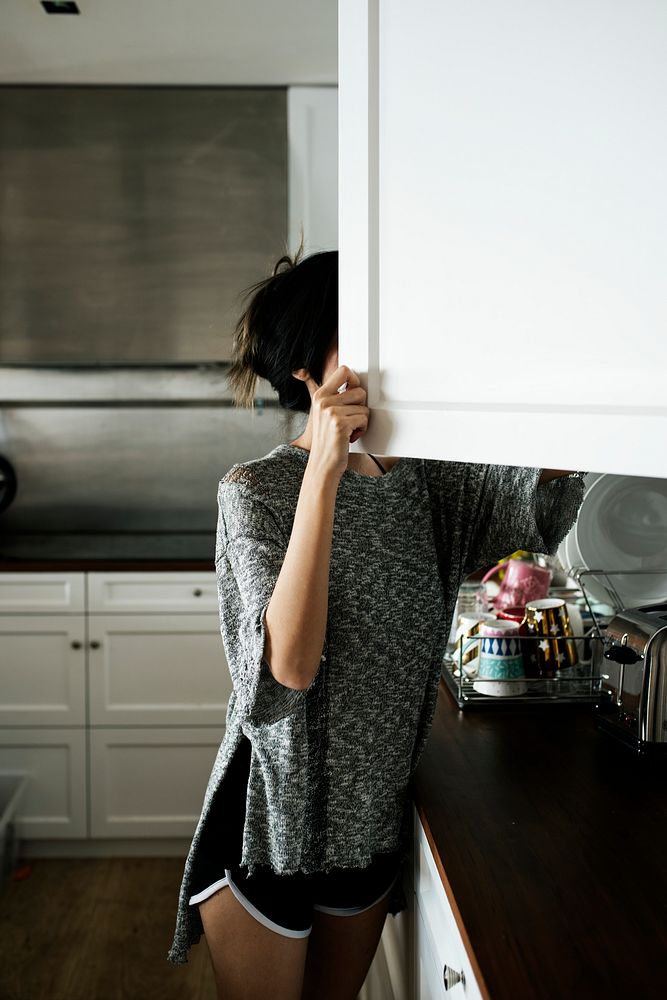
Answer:
[[[389,910],[389,895],[352,916],[315,910],[302,1000],[356,1000],[371,967]]]

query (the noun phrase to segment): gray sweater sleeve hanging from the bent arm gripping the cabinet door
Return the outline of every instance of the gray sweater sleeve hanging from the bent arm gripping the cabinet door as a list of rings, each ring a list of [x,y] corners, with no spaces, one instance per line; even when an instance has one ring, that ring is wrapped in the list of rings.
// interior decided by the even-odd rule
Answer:
[[[264,658],[266,609],[287,544],[275,514],[243,477],[228,473],[220,480],[215,553],[220,632],[240,716],[258,724],[297,711],[308,691],[281,684]]]

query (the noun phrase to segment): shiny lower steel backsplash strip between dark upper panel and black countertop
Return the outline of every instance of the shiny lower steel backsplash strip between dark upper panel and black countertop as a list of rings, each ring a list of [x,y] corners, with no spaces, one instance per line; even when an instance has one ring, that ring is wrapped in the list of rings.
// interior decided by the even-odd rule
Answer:
[[[0,532],[213,532],[218,480],[307,419],[264,380],[254,411],[234,407],[227,368],[0,366],[0,453],[18,478]]]

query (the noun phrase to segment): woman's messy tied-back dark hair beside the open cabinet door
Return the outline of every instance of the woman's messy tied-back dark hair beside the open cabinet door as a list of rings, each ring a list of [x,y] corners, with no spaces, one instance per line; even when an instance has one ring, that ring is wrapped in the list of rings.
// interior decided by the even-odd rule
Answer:
[[[278,393],[280,405],[310,411],[310,393],[292,375],[307,368],[322,382],[326,355],[338,336],[338,251],[301,259],[285,254],[268,278],[243,293],[248,305],[234,331],[232,366],[227,374],[236,406],[254,406],[257,378]]]

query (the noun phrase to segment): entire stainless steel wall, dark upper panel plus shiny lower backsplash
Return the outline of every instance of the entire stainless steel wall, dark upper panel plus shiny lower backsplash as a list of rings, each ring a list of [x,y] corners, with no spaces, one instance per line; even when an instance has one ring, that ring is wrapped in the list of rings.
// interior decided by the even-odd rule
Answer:
[[[285,248],[285,88],[0,87],[0,198],[0,538],[213,534],[230,465],[305,423],[224,378]]]

